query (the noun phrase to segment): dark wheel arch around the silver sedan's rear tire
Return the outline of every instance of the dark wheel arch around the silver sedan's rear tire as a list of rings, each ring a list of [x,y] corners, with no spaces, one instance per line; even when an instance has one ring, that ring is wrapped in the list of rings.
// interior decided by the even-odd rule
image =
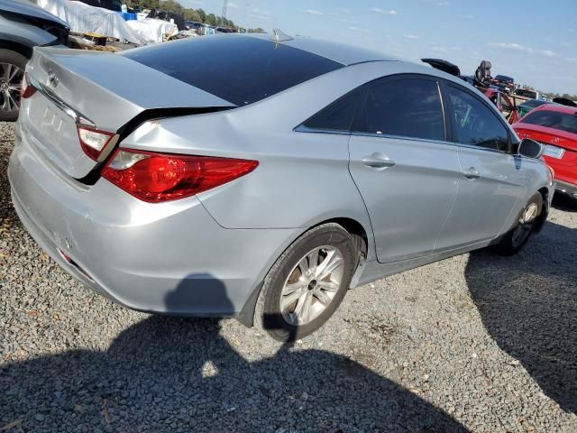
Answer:
[[[286,245],[286,247],[270,263],[267,271],[264,273],[264,276],[266,276],[270,272],[270,268],[274,265],[274,263],[277,262],[277,260],[279,260],[279,257],[287,250],[287,248],[289,248],[291,244],[294,244],[302,235],[305,235],[309,230],[312,230],[317,226],[323,226],[329,223],[335,223],[338,224],[339,226],[342,226],[344,230],[346,230],[350,235],[353,236],[353,243],[357,248],[357,251],[359,252],[359,260],[355,265],[355,272],[356,272],[358,267],[364,261],[367,260],[367,257],[369,256],[369,251],[371,251],[370,248],[373,248],[374,250],[374,246],[372,244],[373,239],[372,239],[371,227],[369,227],[368,231],[365,226],[363,226],[358,220],[352,217],[332,217],[329,219],[319,221],[314,225],[307,226],[300,233],[298,233],[297,236],[291,239],[290,242]],[[264,280],[264,276],[262,280]],[[261,293],[262,283],[263,281],[259,281],[257,286],[252,290],[251,295],[244,303],[243,309],[236,316],[236,319],[246,327],[253,326],[254,311],[256,309],[257,300],[259,299],[259,294]]]

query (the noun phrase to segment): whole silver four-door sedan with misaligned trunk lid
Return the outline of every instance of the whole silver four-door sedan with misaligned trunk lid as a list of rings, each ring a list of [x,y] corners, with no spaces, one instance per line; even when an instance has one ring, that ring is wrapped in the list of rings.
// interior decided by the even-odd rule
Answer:
[[[541,145],[460,78],[390,60],[281,32],[37,49],[14,207],[116,302],[279,340],[321,327],[349,287],[517,253],[554,192]]]

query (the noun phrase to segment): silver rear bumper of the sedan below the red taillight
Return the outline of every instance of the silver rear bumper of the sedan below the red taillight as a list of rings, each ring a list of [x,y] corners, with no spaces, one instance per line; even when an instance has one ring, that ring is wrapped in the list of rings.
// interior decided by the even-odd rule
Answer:
[[[298,236],[224,229],[194,197],[154,205],[104,179],[76,184],[18,130],[8,178],[23,225],[66,272],[130,309],[236,316]]]

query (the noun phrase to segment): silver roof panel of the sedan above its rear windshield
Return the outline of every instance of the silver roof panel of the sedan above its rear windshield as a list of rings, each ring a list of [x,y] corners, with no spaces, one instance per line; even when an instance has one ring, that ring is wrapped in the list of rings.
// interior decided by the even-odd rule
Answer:
[[[365,48],[354,47],[345,43],[324,41],[303,36],[295,36],[294,38],[285,41],[274,41],[271,39],[272,37],[270,34],[243,33],[243,35],[239,35],[239,37],[268,39],[272,42],[287,45],[299,50],[308,51],[312,54],[316,54],[317,56],[325,57],[329,60],[334,60],[338,63],[342,63],[345,66],[364,63],[367,61],[400,60],[380,51],[373,51]]]

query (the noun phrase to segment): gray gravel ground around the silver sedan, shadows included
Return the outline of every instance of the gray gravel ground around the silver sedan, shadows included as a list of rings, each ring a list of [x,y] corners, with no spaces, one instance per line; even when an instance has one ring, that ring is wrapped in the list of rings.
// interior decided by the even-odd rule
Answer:
[[[279,345],[86,290],[10,202],[0,124],[0,431],[577,432],[577,207],[487,252],[351,290]],[[4,426],[4,428],[3,428]]]

